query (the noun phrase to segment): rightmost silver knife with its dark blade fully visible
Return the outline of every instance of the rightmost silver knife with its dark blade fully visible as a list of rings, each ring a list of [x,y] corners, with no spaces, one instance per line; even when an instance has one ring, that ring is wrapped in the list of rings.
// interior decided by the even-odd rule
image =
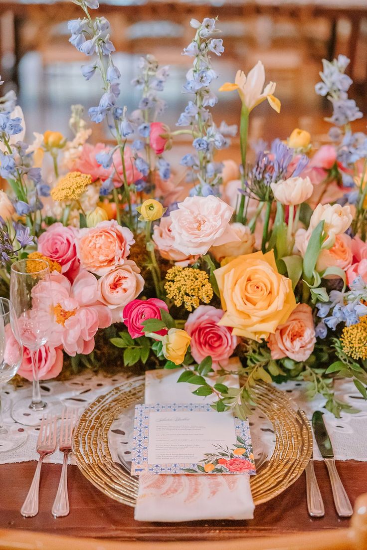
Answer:
[[[324,459],[328,475],[330,477],[332,494],[337,514],[341,518],[350,518],[350,516],[353,514],[353,508],[349,502],[346,489],[344,489],[343,487],[335,466],[334,453],[332,450],[330,437],[328,436],[328,433],[326,431],[323,416],[323,412],[315,411],[312,417],[312,425],[314,428],[316,443],[320,449],[321,456]]]

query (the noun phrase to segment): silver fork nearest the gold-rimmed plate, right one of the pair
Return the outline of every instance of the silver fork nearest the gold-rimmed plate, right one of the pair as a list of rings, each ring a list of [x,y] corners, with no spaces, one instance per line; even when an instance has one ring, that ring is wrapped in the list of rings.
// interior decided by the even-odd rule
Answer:
[[[54,516],[54,518],[63,518],[63,516],[67,516],[70,511],[67,469],[69,454],[72,452],[73,428],[77,416],[78,413],[75,409],[71,411],[68,409],[64,409],[61,417],[59,450],[64,453],[64,459],[59,486],[52,505],[52,515]]]

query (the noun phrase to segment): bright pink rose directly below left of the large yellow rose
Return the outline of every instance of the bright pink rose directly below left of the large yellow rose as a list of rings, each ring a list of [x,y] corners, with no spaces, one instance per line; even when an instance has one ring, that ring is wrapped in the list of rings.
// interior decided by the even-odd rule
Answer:
[[[191,355],[198,363],[210,356],[214,370],[228,364],[238,343],[231,328],[218,326],[223,313],[213,306],[199,306],[185,324],[185,331],[191,336]]]

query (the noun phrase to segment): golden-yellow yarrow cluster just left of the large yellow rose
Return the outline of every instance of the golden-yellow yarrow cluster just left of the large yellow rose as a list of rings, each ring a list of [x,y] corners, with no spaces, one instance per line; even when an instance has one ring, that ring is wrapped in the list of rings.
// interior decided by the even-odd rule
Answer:
[[[200,301],[209,304],[213,298],[213,288],[205,271],[192,267],[171,267],[167,271],[165,289],[167,297],[179,307],[188,311],[199,307]]]

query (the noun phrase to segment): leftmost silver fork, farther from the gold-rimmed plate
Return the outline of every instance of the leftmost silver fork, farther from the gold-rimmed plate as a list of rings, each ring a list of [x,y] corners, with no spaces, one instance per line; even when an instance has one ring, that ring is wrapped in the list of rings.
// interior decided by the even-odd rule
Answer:
[[[37,439],[37,453],[40,458],[36,467],[35,474],[27,495],[24,500],[24,504],[21,507],[20,513],[25,518],[32,518],[38,514],[39,509],[39,489],[40,489],[40,477],[41,466],[45,456],[54,453],[56,450],[56,422],[57,416],[51,415],[48,417],[43,416],[40,426],[40,433]]]

